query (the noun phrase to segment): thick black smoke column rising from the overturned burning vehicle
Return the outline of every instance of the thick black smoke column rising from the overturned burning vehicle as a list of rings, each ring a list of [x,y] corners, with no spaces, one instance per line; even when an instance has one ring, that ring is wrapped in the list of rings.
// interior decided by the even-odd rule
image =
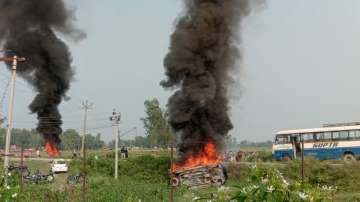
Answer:
[[[241,59],[240,24],[250,0],[184,0],[185,14],[171,36],[164,60],[167,80],[178,89],[170,97],[170,124],[179,136],[180,161],[197,154],[207,141],[221,150],[232,129],[227,99],[231,73]]]

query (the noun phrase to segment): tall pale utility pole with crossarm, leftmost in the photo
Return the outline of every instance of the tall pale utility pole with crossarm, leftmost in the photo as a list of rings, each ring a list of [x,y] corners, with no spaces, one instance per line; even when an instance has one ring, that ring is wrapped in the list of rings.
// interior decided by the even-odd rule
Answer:
[[[12,62],[11,66],[11,79],[10,79],[10,98],[9,98],[9,108],[8,108],[8,125],[6,131],[6,140],[5,140],[5,159],[4,159],[4,170],[5,170],[5,184],[7,184],[7,174],[9,166],[9,150],[10,150],[10,138],[13,122],[13,111],[14,111],[14,96],[15,96],[15,80],[16,80],[16,69],[18,62],[24,62],[26,59],[23,57],[18,57],[14,55],[13,57],[0,57],[0,61]]]

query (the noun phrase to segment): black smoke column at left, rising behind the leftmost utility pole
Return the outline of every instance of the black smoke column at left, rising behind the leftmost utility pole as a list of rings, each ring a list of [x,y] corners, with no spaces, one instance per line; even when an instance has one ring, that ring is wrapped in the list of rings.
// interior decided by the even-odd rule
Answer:
[[[56,145],[62,132],[58,107],[74,75],[71,54],[56,33],[82,38],[74,19],[63,0],[0,0],[0,45],[13,51],[8,56],[26,57],[18,73],[37,92],[30,110],[37,114],[39,133]]]

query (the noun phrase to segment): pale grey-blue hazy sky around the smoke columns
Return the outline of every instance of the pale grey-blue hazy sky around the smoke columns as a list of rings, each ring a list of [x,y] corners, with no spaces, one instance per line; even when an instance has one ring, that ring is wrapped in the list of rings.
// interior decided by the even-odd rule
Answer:
[[[159,82],[182,1],[66,2],[87,38],[65,38],[77,73],[71,99],[61,105],[64,129],[81,131],[81,102],[89,100],[91,133],[111,140],[109,116],[117,109],[123,132],[137,127],[125,139],[144,135],[144,101],[158,98],[165,107],[172,93]],[[232,136],[264,141],[282,129],[360,121],[360,1],[268,0],[253,10],[240,34],[240,85],[229,95]],[[1,94],[8,77],[0,65]],[[21,78],[16,84],[14,127],[34,128],[36,116],[27,108],[34,92]],[[7,104],[6,98],[5,112]]]

